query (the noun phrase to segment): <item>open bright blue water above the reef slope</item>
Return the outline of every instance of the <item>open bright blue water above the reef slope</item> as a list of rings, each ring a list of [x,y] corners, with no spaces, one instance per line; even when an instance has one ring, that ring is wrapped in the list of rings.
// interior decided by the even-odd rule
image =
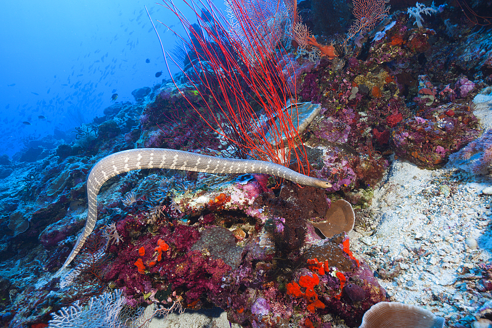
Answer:
[[[144,5],[171,50],[178,38],[157,20],[181,35],[184,29],[151,0],[2,1],[0,154],[12,156],[55,129],[73,137],[74,127],[103,116],[113,93],[133,102],[132,90],[169,78]],[[176,5],[193,23],[184,1]]]

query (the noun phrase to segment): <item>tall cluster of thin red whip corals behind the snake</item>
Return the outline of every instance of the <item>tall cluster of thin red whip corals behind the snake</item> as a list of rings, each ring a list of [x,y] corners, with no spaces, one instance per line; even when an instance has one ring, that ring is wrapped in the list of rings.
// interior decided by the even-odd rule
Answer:
[[[297,157],[299,170],[305,172],[303,165],[307,164],[308,172],[306,150],[298,126],[293,123],[297,120],[285,111],[289,99],[293,104],[297,101],[278,64],[282,53],[275,47],[283,47],[278,42],[278,34],[270,29],[278,26],[272,21],[278,17],[271,15],[274,18],[261,20],[262,11],[254,9],[255,15],[251,18],[249,11],[253,9],[244,9],[243,1],[229,0],[236,17],[235,28],[239,27],[240,34],[246,37],[239,41],[238,33],[231,32],[231,25],[217,14],[210,1],[186,2],[194,10],[198,25],[189,23],[172,1],[164,3],[188,31],[188,39],[182,37],[181,40],[187,50],[189,68],[182,70],[188,87],[197,91],[201,107],[173,80],[188,104],[215,133],[239,149],[242,157],[289,166],[292,152]],[[198,4],[207,7],[201,14],[195,9]],[[258,20],[260,27],[256,25]],[[206,116],[204,111],[213,115]],[[297,107],[293,112],[297,114]],[[275,143],[269,142],[268,132],[276,139]]]

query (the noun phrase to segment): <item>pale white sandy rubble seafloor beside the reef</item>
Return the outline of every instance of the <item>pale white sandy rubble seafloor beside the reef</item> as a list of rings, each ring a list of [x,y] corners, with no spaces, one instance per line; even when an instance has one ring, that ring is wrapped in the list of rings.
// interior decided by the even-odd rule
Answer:
[[[492,127],[492,100],[475,98],[474,114]],[[356,212],[351,250],[376,272],[391,301],[419,305],[446,319],[473,322],[492,294],[479,293],[483,271],[492,259],[492,177],[472,176],[463,163],[422,170],[394,159],[374,192],[369,209]],[[492,309],[491,309],[492,311]],[[347,327],[325,318],[336,328]],[[156,319],[157,328],[229,328],[225,312],[172,313]],[[232,325],[238,328],[239,325]]]

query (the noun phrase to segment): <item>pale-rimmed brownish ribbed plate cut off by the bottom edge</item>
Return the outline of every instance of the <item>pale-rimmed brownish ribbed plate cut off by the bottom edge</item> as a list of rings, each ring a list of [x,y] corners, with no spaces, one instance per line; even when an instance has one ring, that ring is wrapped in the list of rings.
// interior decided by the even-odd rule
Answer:
[[[371,306],[359,328],[442,328],[444,318],[422,307],[397,302],[379,302]]]

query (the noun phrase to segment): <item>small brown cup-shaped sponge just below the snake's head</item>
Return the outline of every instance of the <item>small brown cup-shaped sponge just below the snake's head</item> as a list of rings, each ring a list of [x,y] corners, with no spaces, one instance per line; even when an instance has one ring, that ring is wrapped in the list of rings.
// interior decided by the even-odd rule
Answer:
[[[326,238],[332,238],[342,232],[348,233],[354,229],[355,213],[352,205],[344,199],[332,203],[332,207],[328,209],[325,217],[326,220],[311,222],[311,224],[318,228]]]

